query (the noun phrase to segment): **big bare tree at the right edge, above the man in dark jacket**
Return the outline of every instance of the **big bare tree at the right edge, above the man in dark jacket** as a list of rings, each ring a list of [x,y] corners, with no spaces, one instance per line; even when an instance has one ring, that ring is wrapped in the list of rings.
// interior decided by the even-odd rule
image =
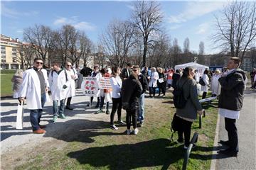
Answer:
[[[256,3],[233,1],[225,6],[223,17],[216,18],[218,33],[213,35],[215,44],[231,56],[240,56],[241,60],[247,48],[256,36]]]

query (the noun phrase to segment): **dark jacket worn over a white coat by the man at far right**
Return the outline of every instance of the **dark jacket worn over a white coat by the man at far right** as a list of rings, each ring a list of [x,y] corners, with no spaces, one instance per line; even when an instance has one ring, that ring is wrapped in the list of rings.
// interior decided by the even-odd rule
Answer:
[[[245,72],[236,69],[226,77],[220,77],[218,81],[221,85],[219,108],[231,111],[240,111],[242,108],[243,94],[245,91]]]

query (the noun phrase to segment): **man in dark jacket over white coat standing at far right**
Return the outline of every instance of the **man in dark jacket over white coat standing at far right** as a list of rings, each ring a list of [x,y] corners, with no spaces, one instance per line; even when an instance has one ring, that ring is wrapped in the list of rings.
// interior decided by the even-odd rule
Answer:
[[[220,153],[230,157],[238,155],[238,129],[235,125],[242,109],[243,95],[247,77],[242,69],[239,69],[240,58],[230,57],[228,72],[225,72],[218,81],[221,85],[218,101],[219,114],[225,118],[225,130],[228,131],[228,141],[220,140],[228,149],[220,150]]]

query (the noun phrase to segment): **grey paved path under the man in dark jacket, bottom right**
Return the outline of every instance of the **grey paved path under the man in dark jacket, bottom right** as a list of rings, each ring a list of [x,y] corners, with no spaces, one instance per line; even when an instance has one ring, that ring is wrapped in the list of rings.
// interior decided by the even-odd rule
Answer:
[[[240,118],[237,120],[239,153],[238,158],[223,158],[217,155],[216,169],[256,169],[256,93],[251,89],[245,91],[245,98]],[[220,117],[218,140],[228,140],[224,118]]]

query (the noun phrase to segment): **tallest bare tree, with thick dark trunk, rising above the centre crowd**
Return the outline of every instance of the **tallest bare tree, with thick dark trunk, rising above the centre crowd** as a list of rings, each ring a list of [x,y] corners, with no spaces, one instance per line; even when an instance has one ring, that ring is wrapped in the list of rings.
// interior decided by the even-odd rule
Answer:
[[[132,20],[138,33],[143,38],[143,61],[142,66],[146,65],[146,52],[148,45],[153,41],[150,36],[160,30],[160,23],[162,21],[162,13],[160,4],[156,1],[136,1],[133,5]]]

